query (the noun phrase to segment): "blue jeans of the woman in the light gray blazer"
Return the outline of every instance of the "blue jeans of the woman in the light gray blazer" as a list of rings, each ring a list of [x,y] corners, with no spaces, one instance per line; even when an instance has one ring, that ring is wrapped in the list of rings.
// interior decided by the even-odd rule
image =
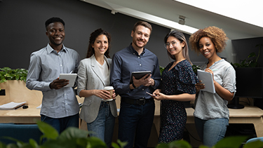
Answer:
[[[91,131],[90,136],[99,137],[107,144],[107,147],[112,145],[112,136],[114,133],[115,117],[112,116],[108,102],[101,102],[100,110],[95,121],[87,123],[88,131]]]

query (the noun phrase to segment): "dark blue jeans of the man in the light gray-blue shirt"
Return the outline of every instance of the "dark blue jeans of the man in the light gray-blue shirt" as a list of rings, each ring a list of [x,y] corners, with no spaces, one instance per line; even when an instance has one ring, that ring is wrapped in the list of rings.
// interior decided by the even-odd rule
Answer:
[[[53,126],[58,133],[62,133],[68,127],[76,127],[79,128],[79,114],[75,114],[73,116],[66,116],[64,118],[53,119],[49,116],[45,116],[41,114],[41,121],[48,123],[50,126]]]

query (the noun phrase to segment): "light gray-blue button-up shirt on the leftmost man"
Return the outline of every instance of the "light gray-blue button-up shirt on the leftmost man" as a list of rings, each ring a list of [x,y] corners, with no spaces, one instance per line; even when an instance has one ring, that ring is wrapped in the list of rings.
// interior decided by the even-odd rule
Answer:
[[[43,93],[40,114],[63,118],[79,113],[79,103],[73,88],[49,88],[49,84],[60,74],[76,73],[79,61],[79,53],[64,45],[58,53],[48,44],[30,55],[26,85],[30,90],[40,90]]]

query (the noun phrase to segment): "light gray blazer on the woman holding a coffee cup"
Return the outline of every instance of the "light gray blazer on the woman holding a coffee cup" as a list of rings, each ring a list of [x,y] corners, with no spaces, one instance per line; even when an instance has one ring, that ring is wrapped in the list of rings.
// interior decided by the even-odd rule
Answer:
[[[104,60],[110,69],[112,65],[112,59],[106,58]],[[102,81],[102,75],[95,56],[92,55],[90,58],[81,60],[79,63],[78,71],[78,95],[81,90],[93,90],[93,89],[104,89],[104,82]],[[80,118],[86,121],[86,123],[91,123],[97,118],[97,114],[100,109],[100,103],[102,98],[92,95],[90,97],[85,97],[83,106],[81,108]],[[117,116],[117,108],[115,100],[109,101],[109,106],[113,116]]]

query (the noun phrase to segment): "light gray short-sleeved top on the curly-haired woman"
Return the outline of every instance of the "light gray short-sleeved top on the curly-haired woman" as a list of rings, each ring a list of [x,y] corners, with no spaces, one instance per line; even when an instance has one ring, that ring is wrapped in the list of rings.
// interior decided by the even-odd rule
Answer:
[[[201,69],[206,68],[206,64],[201,66]],[[236,72],[229,62],[224,59],[215,62],[209,67],[213,69],[214,79],[222,87],[229,90],[231,93],[236,92]],[[196,99],[196,107],[194,116],[199,119],[229,119],[229,109],[227,108],[227,100],[224,100],[217,93],[208,93],[200,91]]]

